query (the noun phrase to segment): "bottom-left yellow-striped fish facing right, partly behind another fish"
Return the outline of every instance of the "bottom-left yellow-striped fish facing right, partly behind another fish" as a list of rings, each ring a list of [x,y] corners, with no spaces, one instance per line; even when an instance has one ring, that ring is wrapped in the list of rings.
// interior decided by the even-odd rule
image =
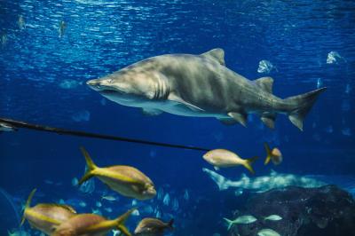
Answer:
[[[76,215],[74,208],[62,204],[40,203],[31,208],[30,204],[35,193],[36,189],[28,196],[20,225],[27,219],[32,227],[51,234],[56,226]]]

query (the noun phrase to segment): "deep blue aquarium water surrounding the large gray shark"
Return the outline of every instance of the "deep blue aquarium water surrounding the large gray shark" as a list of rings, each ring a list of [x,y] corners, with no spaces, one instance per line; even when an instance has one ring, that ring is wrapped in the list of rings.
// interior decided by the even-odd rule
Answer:
[[[24,22],[19,24],[20,15]],[[226,148],[243,158],[259,155],[264,159],[263,143],[267,141],[280,147],[284,161],[277,167],[264,167],[264,160],[256,162],[256,176],[275,169],[354,179],[353,1],[2,0],[0,16],[1,117]],[[59,36],[62,20],[67,29]],[[265,128],[256,116],[249,119],[248,128],[225,126],[212,118],[145,116],[139,109],[106,100],[85,85],[141,59],[166,53],[200,54],[217,47],[225,50],[226,67],[248,79],[272,76],[274,94],[281,98],[326,86],[304,121],[304,132],[285,115],[279,115],[275,130]],[[331,51],[339,57],[327,63]],[[263,59],[272,63],[270,73],[257,72]],[[99,166],[125,164],[142,170],[158,189],[170,193],[170,199],[177,199],[177,210],[171,202],[170,206],[158,200],[149,202],[166,213],[165,220],[176,218],[173,235],[227,234],[222,217],[233,206],[226,204],[223,193],[202,172],[210,166],[198,151],[24,129],[6,132],[0,134],[0,187],[12,194],[18,210],[35,187],[41,193],[35,195],[37,203],[75,199],[88,204],[78,208],[80,212],[97,208],[105,185],[95,180],[91,194],[71,185],[74,177],[83,175],[85,166],[79,146],[85,146]],[[235,168],[221,173],[236,179],[244,172],[247,170]],[[353,181],[347,185],[354,191]],[[209,204],[203,205],[203,201]],[[130,199],[120,197],[108,206],[113,212],[103,214],[118,216],[129,205]],[[141,216],[132,216],[131,230]],[[28,224],[25,227],[29,229]]]

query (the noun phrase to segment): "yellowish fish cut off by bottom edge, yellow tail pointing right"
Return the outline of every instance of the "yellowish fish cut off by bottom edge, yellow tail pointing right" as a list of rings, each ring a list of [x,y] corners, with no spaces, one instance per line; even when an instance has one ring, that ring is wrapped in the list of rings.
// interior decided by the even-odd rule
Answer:
[[[60,224],[51,236],[103,236],[113,229],[130,236],[130,231],[124,223],[134,210],[135,208],[132,208],[114,220],[107,220],[95,214],[79,214]]]

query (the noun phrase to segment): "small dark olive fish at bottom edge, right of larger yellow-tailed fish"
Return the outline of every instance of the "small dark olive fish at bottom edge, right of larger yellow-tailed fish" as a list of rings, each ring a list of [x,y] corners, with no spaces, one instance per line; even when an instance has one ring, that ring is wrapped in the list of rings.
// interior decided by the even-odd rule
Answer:
[[[174,220],[164,223],[158,218],[144,218],[137,225],[134,234],[137,236],[162,236],[166,229],[173,230]]]

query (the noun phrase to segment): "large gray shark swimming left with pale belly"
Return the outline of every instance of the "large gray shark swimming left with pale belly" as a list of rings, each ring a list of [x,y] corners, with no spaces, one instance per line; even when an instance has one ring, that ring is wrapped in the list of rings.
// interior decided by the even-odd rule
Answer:
[[[271,77],[249,81],[225,67],[224,56],[222,49],[156,56],[87,84],[120,105],[142,108],[145,114],[215,117],[244,126],[248,114],[258,114],[269,128],[277,114],[287,114],[303,130],[305,115],[326,88],[278,98],[272,94]]]

